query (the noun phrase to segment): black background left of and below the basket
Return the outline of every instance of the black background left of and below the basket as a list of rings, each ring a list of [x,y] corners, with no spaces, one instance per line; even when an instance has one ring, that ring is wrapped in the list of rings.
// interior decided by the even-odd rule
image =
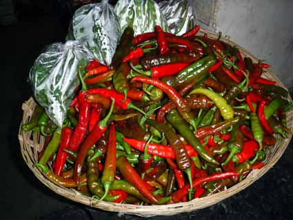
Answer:
[[[32,95],[28,72],[44,46],[64,41],[73,11],[66,1],[14,1],[17,20],[1,26],[1,219],[142,219],[92,209],[55,194],[21,157],[17,134],[21,104]],[[202,210],[150,219],[293,219],[292,181],[291,141],[274,168],[240,193]]]

